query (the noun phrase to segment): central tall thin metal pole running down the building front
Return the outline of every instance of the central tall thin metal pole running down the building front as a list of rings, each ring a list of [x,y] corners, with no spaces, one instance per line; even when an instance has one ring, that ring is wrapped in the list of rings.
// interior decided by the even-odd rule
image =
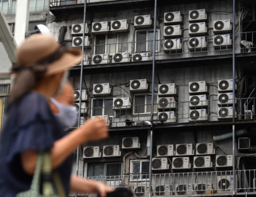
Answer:
[[[155,88],[155,55],[156,55],[156,6],[157,0],[155,0],[154,7],[154,41],[153,41],[153,68],[152,68],[152,100],[151,100],[151,121],[154,117],[154,88]],[[153,145],[153,123],[151,122],[150,128],[150,160],[149,160],[149,197],[151,197],[151,185],[152,185],[152,145]]]

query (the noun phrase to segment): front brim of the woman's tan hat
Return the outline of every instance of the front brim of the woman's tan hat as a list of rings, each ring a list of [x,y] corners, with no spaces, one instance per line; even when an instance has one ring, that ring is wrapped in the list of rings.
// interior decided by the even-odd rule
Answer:
[[[82,58],[80,50],[68,49],[58,60],[48,65],[46,75],[63,72],[81,62]]]

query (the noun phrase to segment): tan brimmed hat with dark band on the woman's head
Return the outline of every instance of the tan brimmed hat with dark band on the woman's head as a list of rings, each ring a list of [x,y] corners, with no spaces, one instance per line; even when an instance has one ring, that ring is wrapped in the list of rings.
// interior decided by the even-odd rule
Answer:
[[[60,44],[53,36],[36,34],[28,37],[16,52],[19,64],[29,66],[42,61],[60,49]],[[76,49],[66,49],[55,61],[47,65],[46,75],[59,73],[73,67],[82,60],[82,52]]]

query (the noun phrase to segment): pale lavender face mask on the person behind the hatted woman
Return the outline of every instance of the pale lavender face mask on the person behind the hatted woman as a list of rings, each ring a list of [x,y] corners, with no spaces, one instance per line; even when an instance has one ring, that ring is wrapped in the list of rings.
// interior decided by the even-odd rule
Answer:
[[[63,105],[54,98],[50,98],[54,105],[58,108],[59,113],[55,114],[58,122],[66,130],[71,127],[77,118],[77,110],[73,105]]]

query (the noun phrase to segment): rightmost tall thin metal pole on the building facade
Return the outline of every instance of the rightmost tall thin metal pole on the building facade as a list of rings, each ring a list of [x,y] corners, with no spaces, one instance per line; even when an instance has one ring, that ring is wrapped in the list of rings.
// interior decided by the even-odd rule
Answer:
[[[235,0],[233,0],[233,23],[235,23]],[[235,195],[235,27],[233,27],[233,117],[232,117],[232,146],[233,146],[233,196]]]

